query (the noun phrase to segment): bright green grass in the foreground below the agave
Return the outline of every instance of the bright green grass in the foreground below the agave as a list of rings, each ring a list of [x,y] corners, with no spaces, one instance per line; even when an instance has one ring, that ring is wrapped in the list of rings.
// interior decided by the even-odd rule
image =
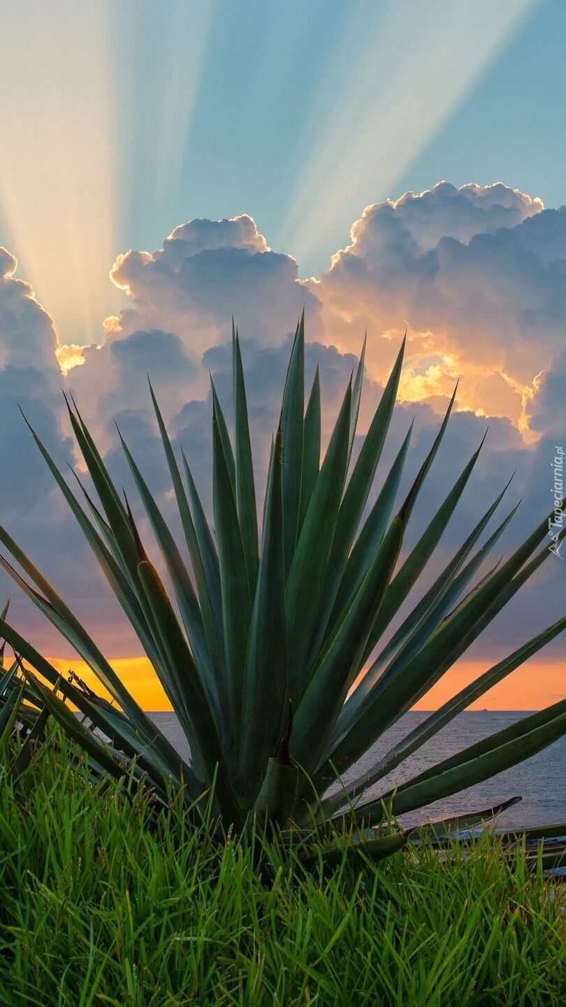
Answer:
[[[330,875],[219,850],[72,771],[60,739],[0,777],[0,1003],[7,1007],[566,1002],[566,886],[486,838]]]

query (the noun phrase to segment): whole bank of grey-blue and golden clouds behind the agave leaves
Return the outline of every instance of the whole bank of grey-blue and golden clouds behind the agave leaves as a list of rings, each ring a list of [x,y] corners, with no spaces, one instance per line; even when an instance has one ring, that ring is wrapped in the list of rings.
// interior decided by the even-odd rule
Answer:
[[[325,272],[308,280],[300,279],[291,256],[269,248],[252,218],[190,221],[176,228],[161,249],[130,250],[117,258],[111,275],[124,292],[125,306],[105,320],[100,346],[59,349],[59,362],[65,354],[82,362],[65,378],[57,366],[50,318],[15,272],[13,257],[1,250],[0,412],[5,436],[0,445],[0,520],[52,575],[81,617],[90,620],[109,654],[137,653],[136,641],[57,497],[17,403],[57,462],[62,467],[77,463],[58,392],[62,382],[77,396],[111,470],[129,487],[116,420],[174,524],[146,375],[151,375],[173,444],[184,448],[209,506],[208,372],[228,406],[233,312],[243,337],[262,491],[289,340],[304,304],[307,378],[319,363],[325,435],[365,329],[363,432],[407,329],[402,401],[383,474],[415,416],[407,479],[412,477],[461,376],[457,411],[415,513],[410,542],[424,529],[487,425],[470,491],[447,530],[437,563],[471,529],[478,501],[486,506],[515,469],[506,507],[521,495],[524,500],[502,540],[502,551],[550,512],[550,465],[565,426],[564,208],[545,209],[540,200],[502,183],[458,189],[440,182],[420,195],[409,192],[397,201],[368,206],[352,226],[350,243],[335,253]],[[560,590],[556,585],[562,585]],[[563,614],[563,585],[564,568],[556,560],[521,592],[471,657],[508,653],[517,645],[518,632],[527,638]],[[33,638],[60,654],[59,641],[34,611],[20,600],[17,606],[16,616],[26,620]]]

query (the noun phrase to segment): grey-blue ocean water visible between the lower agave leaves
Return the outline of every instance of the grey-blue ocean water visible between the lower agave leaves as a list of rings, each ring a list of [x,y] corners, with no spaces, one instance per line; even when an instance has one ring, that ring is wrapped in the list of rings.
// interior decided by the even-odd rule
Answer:
[[[189,752],[186,740],[174,713],[151,713],[150,716],[179,753],[187,758]],[[345,780],[369,768],[392,744],[413,730],[426,716],[421,711],[405,714],[369,749],[356,768],[344,777]],[[488,734],[501,731],[524,716],[525,711],[513,710],[460,713],[389,776],[370,787],[368,796],[379,797],[390,787]],[[491,808],[517,795],[521,795],[522,801],[500,816],[500,828],[566,822],[566,736],[512,769],[506,769],[483,783],[403,816],[400,821],[405,825],[415,825],[426,822],[427,819],[463,815],[465,812]]]

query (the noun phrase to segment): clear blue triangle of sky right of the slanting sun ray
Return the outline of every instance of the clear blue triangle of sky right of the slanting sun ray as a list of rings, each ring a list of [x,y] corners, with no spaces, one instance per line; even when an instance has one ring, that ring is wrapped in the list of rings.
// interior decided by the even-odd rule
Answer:
[[[566,202],[566,5],[534,4],[445,127],[400,178],[401,189],[431,178],[494,179],[548,206]]]

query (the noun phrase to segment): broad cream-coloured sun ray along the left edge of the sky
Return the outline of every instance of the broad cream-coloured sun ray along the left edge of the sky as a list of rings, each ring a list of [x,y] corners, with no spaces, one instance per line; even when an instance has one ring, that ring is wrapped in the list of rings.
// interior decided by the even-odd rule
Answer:
[[[0,12],[10,82],[0,109],[0,221],[20,275],[62,342],[89,342],[119,303],[116,143],[108,3],[24,2]],[[104,306],[104,307],[103,307]]]

